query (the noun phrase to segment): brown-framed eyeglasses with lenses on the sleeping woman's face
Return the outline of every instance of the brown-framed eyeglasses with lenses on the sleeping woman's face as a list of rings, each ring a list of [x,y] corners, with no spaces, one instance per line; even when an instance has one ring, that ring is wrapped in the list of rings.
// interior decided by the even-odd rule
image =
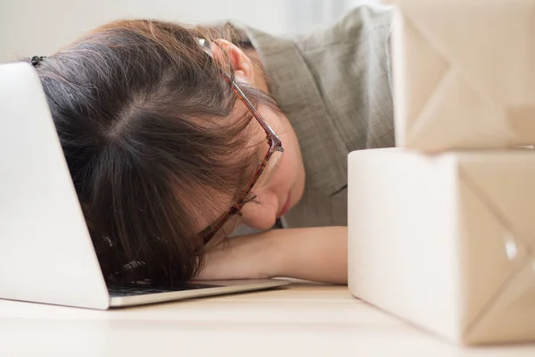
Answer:
[[[202,49],[207,54],[210,54],[210,56],[212,56],[209,41],[204,38],[199,38],[199,44],[202,46]],[[240,98],[247,110],[251,112],[251,115],[254,117],[255,120],[259,122],[262,129],[264,129],[264,131],[266,132],[269,149],[268,152],[265,154],[258,170],[256,170],[255,174],[251,178],[251,181],[243,191],[243,195],[241,195],[238,199],[238,202],[236,202],[235,205],[230,207],[230,209],[226,213],[224,213],[218,220],[216,220],[212,225],[210,225],[210,227],[202,231],[202,236],[204,237],[205,245],[210,242],[210,240],[216,234],[218,234],[218,232],[221,232],[228,236],[235,230],[236,226],[238,225],[239,218],[242,215],[241,211],[243,209],[243,205],[245,203],[251,202],[251,199],[247,199],[247,197],[251,194],[251,192],[256,191],[255,188],[263,187],[263,185],[261,184],[267,183],[270,179],[270,177],[266,177],[264,175],[260,180],[262,173],[264,171],[267,171],[268,174],[272,174],[275,169],[275,164],[276,162],[278,162],[278,156],[281,156],[284,153],[284,148],[281,143],[281,140],[279,139],[279,137],[277,137],[275,131],[271,129],[268,122],[262,117],[259,111],[257,111],[254,105],[251,104],[251,101],[247,99],[247,96],[243,94],[242,89],[240,89],[240,87],[235,84],[235,81],[231,79],[225,71],[221,71],[221,74],[223,75],[223,79],[225,79],[226,82],[232,87],[238,98]]]

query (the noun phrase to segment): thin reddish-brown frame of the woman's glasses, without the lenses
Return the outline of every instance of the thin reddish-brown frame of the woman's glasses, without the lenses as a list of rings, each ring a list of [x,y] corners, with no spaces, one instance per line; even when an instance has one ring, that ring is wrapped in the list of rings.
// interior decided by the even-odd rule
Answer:
[[[202,46],[202,49],[207,54],[210,54],[210,57],[213,58],[212,51],[211,51],[211,45],[210,42],[204,38],[199,38],[199,44]],[[210,240],[218,233],[218,230],[223,228],[226,225],[226,222],[228,222],[232,217],[234,217],[236,214],[240,214],[240,212],[243,209],[243,205],[245,203],[249,202],[246,201],[246,197],[251,193],[252,187],[256,185],[258,182],[260,176],[262,175],[262,172],[266,168],[266,165],[268,165],[269,159],[275,152],[284,152],[283,144],[280,140],[280,138],[276,135],[276,132],[269,126],[268,122],[264,119],[264,117],[259,113],[259,111],[254,107],[253,104],[251,104],[251,101],[247,98],[246,95],[243,94],[242,89],[238,87],[238,85],[235,83],[233,79],[230,78],[228,74],[226,74],[225,71],[221,70],[221,74],[223,76],[223,79],[226,80],[226,83],[228,83],[233,91],[235,92],[235,95],[240,98],[242,103],[245,105],[247,110],[251,112],[251,115],[255,120],[258,121],[262,129],[266,132],[266,138],[268,140],[269,150],[268,153],[264,156],[264,159],[262,160],[262,163],[260,164],[258,170],[256,170],[255,174],[251,178],[251,181],[247,185],[247,187],[243,191],[243,195],[240,196],[238,201],[228,209],[226,213],[224,213],[221,217],[218,218],[213,224],[211,224],[208,228],[205,228],[202,230],[202,236],[204,237],[204,244],[206,245]]]

